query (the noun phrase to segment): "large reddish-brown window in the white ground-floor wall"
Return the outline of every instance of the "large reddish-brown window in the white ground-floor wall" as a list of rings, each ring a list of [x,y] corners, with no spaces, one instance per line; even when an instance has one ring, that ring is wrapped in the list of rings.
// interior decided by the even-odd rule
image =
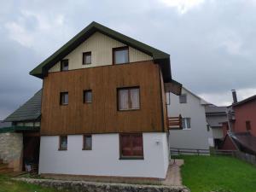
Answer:
[[[143,134],[120,134],[120,159],[143,159]]]

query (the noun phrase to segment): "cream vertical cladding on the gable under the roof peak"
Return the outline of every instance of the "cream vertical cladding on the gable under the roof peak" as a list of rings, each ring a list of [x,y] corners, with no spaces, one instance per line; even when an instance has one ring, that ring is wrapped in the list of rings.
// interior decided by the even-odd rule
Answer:
[[[69,70],[112,65],[112,49],[123,46],[126,45],[114,40],[113,38],[109,38],[108,36],[103,35],[101,32],[96,32],[63,59],[68,59]],[[82,65],[83,53],[88,51],[91,51],[91,64]],[[130,62],[149,61],[152,59],[152,56],[146,55],[142,51],[129,47]],[[49,73],[59,72],[60,70],[61,62],[59,61],[55,64],[54,67],[49,69]]]

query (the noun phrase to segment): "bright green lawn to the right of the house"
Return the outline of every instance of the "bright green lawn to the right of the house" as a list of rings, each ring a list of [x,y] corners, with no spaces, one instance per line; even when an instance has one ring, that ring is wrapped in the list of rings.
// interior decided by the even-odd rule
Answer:
[[[183,184],[191,192],[256,192],[256,167],[225,156],[180,156]]]

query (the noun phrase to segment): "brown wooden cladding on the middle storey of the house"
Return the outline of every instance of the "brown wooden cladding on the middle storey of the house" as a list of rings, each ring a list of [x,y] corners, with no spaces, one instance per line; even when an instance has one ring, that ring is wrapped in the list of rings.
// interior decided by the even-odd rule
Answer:
[[[49,73],[44,78],[41,134],[164,131],[160,78],[153,61]],[[140,109],[118,111],[117,88],[133,86],[140,87]],[[91,103],[83,102],[83,90],[92,90]],[[61,106],[64,91],[68,105]]]

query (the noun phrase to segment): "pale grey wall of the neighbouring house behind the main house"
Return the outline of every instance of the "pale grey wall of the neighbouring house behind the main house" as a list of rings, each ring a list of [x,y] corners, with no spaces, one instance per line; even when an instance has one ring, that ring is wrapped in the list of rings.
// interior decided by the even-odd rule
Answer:
[[[177,117],[181,114],[183,118],[190,118],[191,128],[171,130],[170,147],[208,149],[212,133],[207,131],[205,107],[201,105],[201,99],[191,94],[189,90],[183,88],[182,94],[187,95],[187,103],[180,103],[179,96],[170,94],[171,103],[167,105],[168,117]],[[169,94],[166,94],[167,102],[169,102],[168,96]],[[210,142],[212,143],[212,140]]]

